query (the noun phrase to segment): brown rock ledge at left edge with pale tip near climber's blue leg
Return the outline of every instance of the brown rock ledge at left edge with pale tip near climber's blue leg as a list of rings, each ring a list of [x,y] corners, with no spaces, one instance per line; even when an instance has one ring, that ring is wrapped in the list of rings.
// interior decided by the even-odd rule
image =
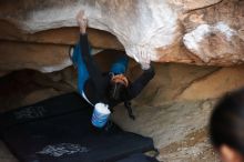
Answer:
[[[35,69],[52,72],[71,65],[69,47],[0,41],[0,69]]]

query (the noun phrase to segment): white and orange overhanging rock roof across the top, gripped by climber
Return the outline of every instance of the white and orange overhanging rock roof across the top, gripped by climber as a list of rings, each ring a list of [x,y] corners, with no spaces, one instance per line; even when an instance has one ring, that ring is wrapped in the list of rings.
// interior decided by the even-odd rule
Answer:
[[[49,57],[60,55],[59,60],[52,59],[52,71],[67,67],[70,64],[64,57],[69,49],[67,45],[73,44],[78,38],[78,30],[68,27],[77,27],[75,14],[81,9],[88,16],[90,28],[112,33],[91,31],[90,34],[95,36],[91,40],[96,42],[94,47],[124,49],[132,58],[146,52],[156,62],[231,65],[244,60],[242,0],[1,1],[0,23],[1,29],[4,29],[0,31],[0,39],[4,40],[0,42],[1,57],[4,51],[10,55],[17,54],[11,47],[21,47],[20,42],[55,43],[55,47],[47,47],[53,50],[53,54],[45,50],[40,52]],[[6,44],[6,40],[18,41],[18,44]],[[57,47],[60,44],[67,50],[60,51],[60,47]],[[35,52],[26,50],[27,55],[23,52],[22,58],[30,58],[29,52]],[[51,60],[34,67],[34,59],[40,59],[38,57],[27,59],[23,63],[22,60],[16,62],[11,59],[13,57],[1,58],[1,64],[6,65],[0,69],[50,69]],[[10,68],[11,64],[16,64],[14,68]]]

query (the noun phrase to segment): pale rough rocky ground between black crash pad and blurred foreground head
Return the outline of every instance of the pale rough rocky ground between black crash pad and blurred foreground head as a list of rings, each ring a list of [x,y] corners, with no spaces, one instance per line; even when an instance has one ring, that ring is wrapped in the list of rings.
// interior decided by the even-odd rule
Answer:
[[[207,138],[207,121],[215,101],[135,107],[131,121],[118,108],[114,121],[124,130],[152,136],[163,162],[217,162]]]

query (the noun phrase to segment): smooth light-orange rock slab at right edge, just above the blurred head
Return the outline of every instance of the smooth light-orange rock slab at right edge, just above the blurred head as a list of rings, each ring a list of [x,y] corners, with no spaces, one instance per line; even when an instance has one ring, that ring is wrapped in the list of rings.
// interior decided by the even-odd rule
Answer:
[[[220,98],[230,90],[244,87],[244,67],[224,68],[195,80],[177,97],[179,100],[201,100]]]

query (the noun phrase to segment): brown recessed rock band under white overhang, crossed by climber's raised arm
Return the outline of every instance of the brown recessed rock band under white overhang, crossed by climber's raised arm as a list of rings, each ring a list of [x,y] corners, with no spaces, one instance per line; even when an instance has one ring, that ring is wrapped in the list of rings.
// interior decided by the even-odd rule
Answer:
[[[118,39],[109,32],[88,29],[89,41],[98,49],[123,49]],[[24,33],[7,21],[0,21],[0,40],[44,44],[75,44],[79,39],[77,27],[50,29],[37,33]]]

